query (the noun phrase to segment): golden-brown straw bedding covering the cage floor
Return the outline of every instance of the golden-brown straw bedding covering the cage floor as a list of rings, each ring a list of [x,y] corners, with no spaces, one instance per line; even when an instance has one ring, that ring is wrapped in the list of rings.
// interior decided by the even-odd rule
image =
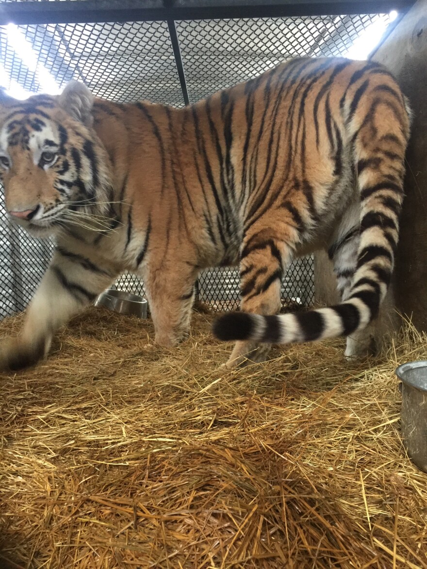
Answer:
[[[0,567],[427,567],[427,475],[393,373],[425,336],[224,372],[211,320],[167,351],[150,321],[92,308],[42,365],[0,376]]]

